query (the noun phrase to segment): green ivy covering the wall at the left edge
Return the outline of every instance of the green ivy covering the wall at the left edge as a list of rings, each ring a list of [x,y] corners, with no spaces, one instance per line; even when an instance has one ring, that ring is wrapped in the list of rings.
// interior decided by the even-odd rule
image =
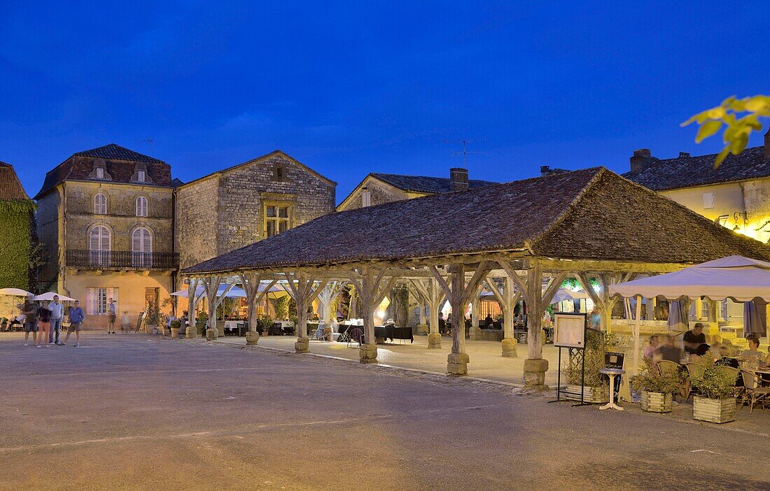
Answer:
[[[29,289],[32,201],[0,201],[0,288]]]

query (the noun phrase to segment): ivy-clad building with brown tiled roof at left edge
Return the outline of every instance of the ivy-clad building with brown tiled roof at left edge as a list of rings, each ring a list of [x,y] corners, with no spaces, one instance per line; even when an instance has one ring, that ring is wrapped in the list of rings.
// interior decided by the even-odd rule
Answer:
[[[12,165],[0,162],[0,288],[30,288],[29,254],[35,206]],[[15,313],[18,298],[0,296],[0,315]]]

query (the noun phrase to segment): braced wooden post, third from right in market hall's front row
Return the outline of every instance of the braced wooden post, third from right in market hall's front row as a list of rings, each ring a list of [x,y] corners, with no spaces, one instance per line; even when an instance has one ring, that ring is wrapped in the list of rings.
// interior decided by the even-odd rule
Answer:
[[[350,282],[355,286],[358,296],[361,299],[361,309],[363,310],[363,344],[361,345],[358,356],[362,363],[377,363],[377,343],[374,339],[374,310],[380,306],[387,292],[393,288],[396,277],[385,279],[387,269],[380,269],[375,272],[370,268],[361,269],[360,278],[350,274]],[[384,282],[383,282],[384,280]]]

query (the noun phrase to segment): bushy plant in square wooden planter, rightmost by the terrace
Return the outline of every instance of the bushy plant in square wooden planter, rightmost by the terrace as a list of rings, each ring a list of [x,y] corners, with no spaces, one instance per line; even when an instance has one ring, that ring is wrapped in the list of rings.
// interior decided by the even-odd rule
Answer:
[[[690,374],[692,386],[701,392],[693,396],[692,417],[711,423],[735,421],[735,372],[703,356]]]

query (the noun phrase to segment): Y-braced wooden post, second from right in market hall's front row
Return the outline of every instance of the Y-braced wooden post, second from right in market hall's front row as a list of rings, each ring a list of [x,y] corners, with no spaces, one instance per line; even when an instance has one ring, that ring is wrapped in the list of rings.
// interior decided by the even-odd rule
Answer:
[[[452,352],[447,356],[447,372],[453,376],[467,375],[470,358],[465,352],[464,312],[479,283],[487,275],[487,261],[479,262],[474,276],[467,283],[465,282],[465,265],[463,263],[452,264],[448,268],[450,285],[439,274],[435,266],[430,266],[428,270],[441,286],[441,289],[444,290],[444,294],[452,306]]]

